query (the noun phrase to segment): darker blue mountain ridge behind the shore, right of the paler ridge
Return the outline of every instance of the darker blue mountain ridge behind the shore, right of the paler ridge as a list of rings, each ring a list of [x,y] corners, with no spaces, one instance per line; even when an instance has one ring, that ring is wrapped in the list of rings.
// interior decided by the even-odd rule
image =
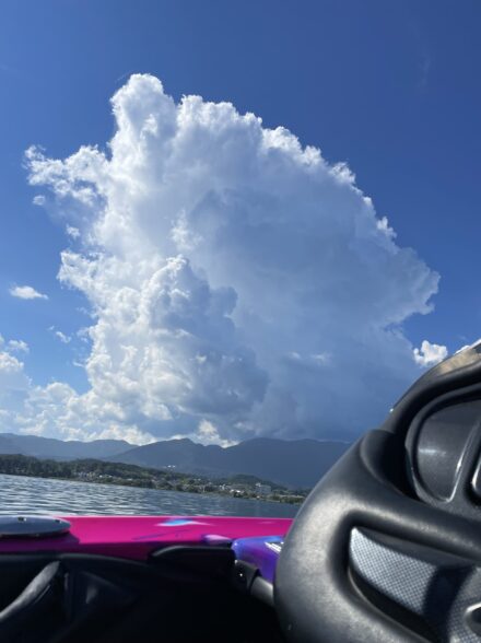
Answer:
[[[348,449],[343,442],[254,437],[223,448],[188,439],[137,446],[108,459],[143,467],[225,476],[249,474],[289,487],[313,487]]]

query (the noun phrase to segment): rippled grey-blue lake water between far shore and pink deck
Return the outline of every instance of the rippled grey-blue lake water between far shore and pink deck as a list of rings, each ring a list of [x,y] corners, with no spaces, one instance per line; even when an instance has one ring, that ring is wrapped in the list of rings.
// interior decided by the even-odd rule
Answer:
[[[224,495],[0,475],[0,514],[293,517],[300,505]]]

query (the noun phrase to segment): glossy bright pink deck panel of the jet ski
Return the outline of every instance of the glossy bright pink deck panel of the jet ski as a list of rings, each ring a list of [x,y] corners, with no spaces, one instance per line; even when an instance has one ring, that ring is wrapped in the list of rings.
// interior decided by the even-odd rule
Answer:
[[[59,551],[96,553],[134,560],[169,545],[215,545],[250,536],[284,536],[291,518],[214,516],[58,516],[69,534],[49,538],[5,538],[0,553]]]

